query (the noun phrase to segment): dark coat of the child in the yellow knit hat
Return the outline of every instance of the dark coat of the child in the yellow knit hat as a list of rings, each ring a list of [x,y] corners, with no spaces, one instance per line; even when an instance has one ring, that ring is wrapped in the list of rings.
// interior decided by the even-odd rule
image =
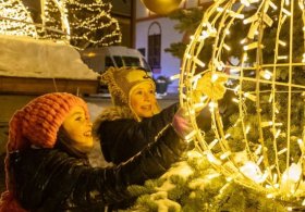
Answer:
[[[100,115],[95,134],[100,140],[106,161],[119,164],[154,142],[158,134],[172,122],[176,110],[178,103],[142,122],[134,119],[111,120]]]

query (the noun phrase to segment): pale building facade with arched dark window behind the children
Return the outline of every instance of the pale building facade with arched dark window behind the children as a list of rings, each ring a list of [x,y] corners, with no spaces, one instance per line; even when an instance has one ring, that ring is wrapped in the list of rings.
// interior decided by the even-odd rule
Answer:
[[[181,9],[207,8],[212,0],[183,0]],[[184,38],[174,29],[175,21],[164,15],[150,12],[141,0],[135,0],[135,45],[151,66],[154,77],[170,77],[180,73],[181,60],[166,52],[172,42],[180,42]],[[172,82],[168,92],[178,92],[178,80]]]

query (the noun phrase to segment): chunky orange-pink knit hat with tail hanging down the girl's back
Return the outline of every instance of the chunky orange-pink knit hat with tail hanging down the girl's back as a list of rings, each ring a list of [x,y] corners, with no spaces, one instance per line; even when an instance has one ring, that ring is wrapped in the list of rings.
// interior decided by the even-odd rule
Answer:
[[[15,112],[9,124],[9,141],[5,158],[8,190],[1,197],[1,212],[24,211],[14,200],[13,191],[9,187],[9,153],[32,145],[39,148],[53,148],[60,126],[71,109],[76,105],[82,107],[89,119],[85,101],[66,92],[52,92],[40,96]]]

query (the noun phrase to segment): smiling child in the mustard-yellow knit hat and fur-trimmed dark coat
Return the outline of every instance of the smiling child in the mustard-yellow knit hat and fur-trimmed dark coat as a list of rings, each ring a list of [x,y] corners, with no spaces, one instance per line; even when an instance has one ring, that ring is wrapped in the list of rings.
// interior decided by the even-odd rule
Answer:
[[[114,107],[101,112],[94,123],[108,162],[119,164],[156,140],[179,109],[172,104],[160,111],[156,85],[142,68],[110,67],[101,76],[108,85]]]

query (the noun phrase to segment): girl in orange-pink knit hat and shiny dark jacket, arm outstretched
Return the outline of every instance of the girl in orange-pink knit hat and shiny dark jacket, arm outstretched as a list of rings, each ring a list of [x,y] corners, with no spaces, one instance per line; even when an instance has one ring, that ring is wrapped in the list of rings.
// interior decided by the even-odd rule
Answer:
[[[179,114],[172,126],[190,133]],[[129,185],[158,177],[181,159],[187,145],[175,132],[168,127],[125,163],[94,169],[86,157],[93,147],[86,103],[64,92],[38,97],[10,122],[0,211],[102,211],[129,200]]]

